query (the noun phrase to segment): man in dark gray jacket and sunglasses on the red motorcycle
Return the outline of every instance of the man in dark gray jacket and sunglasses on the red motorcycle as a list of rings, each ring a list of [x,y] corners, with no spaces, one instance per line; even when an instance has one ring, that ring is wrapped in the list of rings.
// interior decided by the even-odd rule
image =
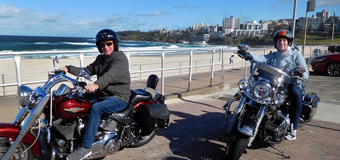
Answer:
[[[96,60],[85,67],[89,74],[97,75],[93,84],[87,84],[84,97],[96,102],[90,109],[82,147],[66,157],[67,160],[82,160],[91,155],[91,147],[103,114],[123,110],[131,95],[129,62],[119,50],[119,38],[115,31],[103,29],[96,35],[96,45],[100,53]],[[81,68],[72,65],[60,68],[77,75]],[[97,90],[97,92],[94,92]]]

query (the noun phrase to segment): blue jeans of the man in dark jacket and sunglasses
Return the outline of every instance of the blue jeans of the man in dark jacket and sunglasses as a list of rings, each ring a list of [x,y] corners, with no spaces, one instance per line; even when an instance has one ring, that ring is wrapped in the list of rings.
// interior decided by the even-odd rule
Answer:
[[[123,110],[128,104],[117,97],[108,97],[93,104],[90,108],[90,118],[86,127],[82,146],[91,148],[103,114],[112,114]]]

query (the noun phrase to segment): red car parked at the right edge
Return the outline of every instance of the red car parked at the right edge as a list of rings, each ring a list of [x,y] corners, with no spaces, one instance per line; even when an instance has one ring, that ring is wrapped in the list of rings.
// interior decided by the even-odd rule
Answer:
[[[312,61],[312,69],[329,76],[340,76],[340,53],[317,56]]]

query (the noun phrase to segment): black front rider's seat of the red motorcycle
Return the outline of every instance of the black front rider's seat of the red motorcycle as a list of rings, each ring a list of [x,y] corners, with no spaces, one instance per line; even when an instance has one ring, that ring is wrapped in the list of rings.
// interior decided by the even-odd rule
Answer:
[[[132,116],[134,113],[134,105],[132,104],[128,104],[125,109],[123,109],[122,111],[119,111],[117,113],[113,113],[113,114],[108,114],[105,115],[106,117],[109,117],[115,121],[118,121],[124,125],[127,125],[128,123],[130,123]]]

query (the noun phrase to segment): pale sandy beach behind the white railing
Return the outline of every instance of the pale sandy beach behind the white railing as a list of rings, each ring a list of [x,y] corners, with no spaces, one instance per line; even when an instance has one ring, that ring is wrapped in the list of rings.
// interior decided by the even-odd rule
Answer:
[[[274,51],[274,48],[267,49],[266,52]],[[312,48],[312,51],[314,48]],[[307,48],[308,51],[308,48]],[[305,52],[306,53],[306,52]],[[216,50],[214,53],[214,63],[220,62],[220,52]],[[265,54],[263,50],[261,51],[251,51],[251,54]],[[192,57],[192,65],[204,65],[212,62],[212,51],[207,53],[197,53],[193,54]],[[234,64],[229,64],[229,58],[231,55],[234,56]],[[95,60],[95,57],[85,57],[84,58],[84,66],[92,63]],[[141,79],[147,79],[150,74],[156,74],[161,78],[161,71],[152,71],[145,73],[133,73],[136,71],[150,71],[156,69],[162,69],[162,56],[161,55],[153,55],[153,56],[130,56],[130,72],[132,81],[137,81]],[[165,69],[167,68],[175,68],[175,67],[187,67],[189,66],[190,54],[189,51],[187,54],[165,54]],[[232,51],[225,51],[224,53],[224,64],[225,69],[232,67],[242,67],[241,65],[236,65],[240,62],[244,62],[243,59],[238,57],[236,54],[233,54]],[[60,58],[59,63],[55,64],[56,68],[64,67],[65,65],[74,65],[80,67],[79,58]],[[53,71],[53,59],[21,59],[20,60],[20,71],[21,71],[21,82],[31,82],[31,81],[40,81],[47,80],[48,72]],[[193,73],[198,72],[208,72],[211,70],[211,65],[203,66],[203,67],[193,67]],[[221,62],[218,65],[214,66],[214,70],[221,70]],[[189,68],[182,69],[172,69],[165,71],[165,77],[174,76],[180,74],[188,74]],[[33,72],[33,73],[27,73]],[[15,63],[13,59],[9,60],[0,60],[0,74],[1,74],[1,84],[9,84],[16,83],[16,70]],[[95,78],[94,78],[95,80]],[[30,84],[29,87],[35,88],[36,86],[43,85],[43,83]],[[15,94],[16,86],[5,87],[5,91],[11,91],[8,93]],[[3,87],[0,87],[0,92],[3,93]],[[0,96],[2,96],[1,94]],[[8,95],[6,93],[6,95]]]

